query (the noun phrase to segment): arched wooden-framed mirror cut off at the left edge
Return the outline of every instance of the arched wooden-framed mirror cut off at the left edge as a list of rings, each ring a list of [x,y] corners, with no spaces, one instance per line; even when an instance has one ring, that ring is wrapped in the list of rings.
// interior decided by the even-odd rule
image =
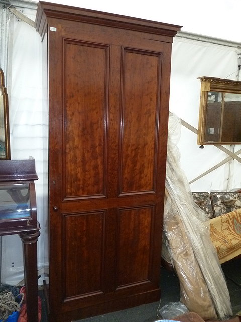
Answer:
[[[9,100],[4,85],[4,72],[0,68],[0,160],[10,159]]]

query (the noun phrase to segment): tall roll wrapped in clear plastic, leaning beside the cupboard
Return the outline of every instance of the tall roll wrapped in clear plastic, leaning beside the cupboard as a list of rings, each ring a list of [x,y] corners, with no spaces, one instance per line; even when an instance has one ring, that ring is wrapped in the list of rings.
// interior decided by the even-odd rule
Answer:
[[[177,148],[180,119],[169,113],[164,233],[180,281],[180,300],[203,319],[232,315],[230,296],[209,236],[209,219],[193,201]]]

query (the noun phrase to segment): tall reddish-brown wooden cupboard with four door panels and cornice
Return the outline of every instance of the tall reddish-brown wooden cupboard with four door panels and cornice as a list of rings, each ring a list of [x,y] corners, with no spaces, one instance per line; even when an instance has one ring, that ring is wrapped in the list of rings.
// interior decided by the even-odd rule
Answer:
[[[51,321],[160,298],[179,26],[39,2],[47,50]]]

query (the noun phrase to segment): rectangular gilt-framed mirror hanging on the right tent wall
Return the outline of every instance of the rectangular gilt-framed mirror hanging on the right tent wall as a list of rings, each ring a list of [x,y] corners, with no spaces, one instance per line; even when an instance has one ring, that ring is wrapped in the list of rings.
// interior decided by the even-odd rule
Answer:
[[[198,79],[201,95],[197,144],[241,144],[241,82]]]

